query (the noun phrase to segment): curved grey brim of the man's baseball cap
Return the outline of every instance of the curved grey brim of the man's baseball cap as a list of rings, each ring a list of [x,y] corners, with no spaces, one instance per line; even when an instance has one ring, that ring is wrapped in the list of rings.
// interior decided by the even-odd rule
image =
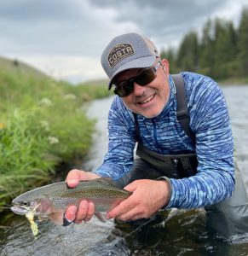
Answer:
[[[146,57],[141,57],[139,59],[129,61],[122,65],[121,67],[118,68],[118,70],[113,73],[112,78],[109,81],[108,84],[108,90],[111,89],[112,87],[112,80],[115,78],[118,73],[121,73],[125,70],[132,69],[132,68],[146,68],[146,67],[152,67],[154,62],[156,60],[156,55],[153,56],[146,56]]]

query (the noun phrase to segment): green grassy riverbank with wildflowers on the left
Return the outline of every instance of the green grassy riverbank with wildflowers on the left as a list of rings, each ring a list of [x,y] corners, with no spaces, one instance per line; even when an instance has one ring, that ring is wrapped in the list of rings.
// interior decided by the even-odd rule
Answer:
[[[87,102],[105,86],[72,86],[47,77],[0,71],[0,212],[26,190],[48,183],[61,163],[84,159],[95,119]]]

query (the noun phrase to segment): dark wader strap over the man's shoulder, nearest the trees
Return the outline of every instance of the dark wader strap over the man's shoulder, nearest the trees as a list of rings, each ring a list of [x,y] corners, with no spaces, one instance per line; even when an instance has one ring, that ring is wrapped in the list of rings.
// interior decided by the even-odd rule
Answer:
[[[182,126],[182,130],[185,131],[187,136],[195,143],[195,134],[189,127],[189,115],[187,112],[187,98],[185,95],[185,86],[180,73],[171,75],[176,86],[176,118]]]

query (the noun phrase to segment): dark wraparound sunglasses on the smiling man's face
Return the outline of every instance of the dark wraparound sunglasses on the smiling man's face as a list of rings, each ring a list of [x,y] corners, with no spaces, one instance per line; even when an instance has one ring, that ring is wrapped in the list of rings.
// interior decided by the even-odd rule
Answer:
[[[115,86],[113,92],[120,97],[129,96],[134,91],[134,83],[137,83],[141,86],[145,86],[151,83],[157,77],[157,70],[160,64],[161,62],[159,61],[155,67],[142,69],[141,73],[135,77],[119,83],[113,83]]]

